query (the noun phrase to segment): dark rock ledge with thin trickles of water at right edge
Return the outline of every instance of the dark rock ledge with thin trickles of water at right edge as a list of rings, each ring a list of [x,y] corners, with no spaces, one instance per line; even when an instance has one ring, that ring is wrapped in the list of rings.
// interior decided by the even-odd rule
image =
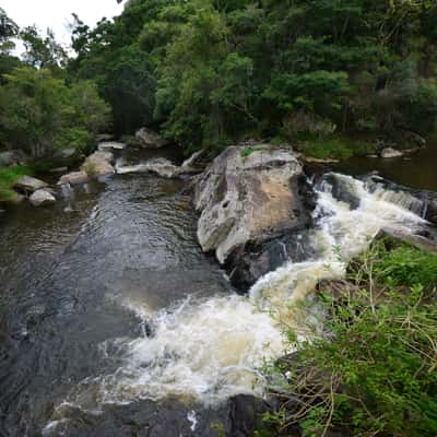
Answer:
[[[437,224],[437,192],[404,187],[375,174],[365,175],[362,179],[370,192]]]

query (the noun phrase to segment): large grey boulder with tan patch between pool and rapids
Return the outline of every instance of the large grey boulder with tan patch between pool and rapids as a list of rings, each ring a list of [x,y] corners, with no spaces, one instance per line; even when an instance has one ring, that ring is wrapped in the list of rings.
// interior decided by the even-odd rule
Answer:
[[[194,206],[201,213],[198,238],[202,249],[215,251],[221,263],[228,261],[235,277],[245,277],[239,285],[249,285],[265,269],[282,263],[274,239],[310,225],[314,193],[292,151],[255,150],[248,156],[241,152],[238,146],[226,149],[200,175]],[[267,241],[270,245],[261,250]],[[240,262],[248,252],[253,255],[251,262],[267,257],[261,263],[265,268],[249,275],[238,273],[238,269],[248,269],[247,258]]]

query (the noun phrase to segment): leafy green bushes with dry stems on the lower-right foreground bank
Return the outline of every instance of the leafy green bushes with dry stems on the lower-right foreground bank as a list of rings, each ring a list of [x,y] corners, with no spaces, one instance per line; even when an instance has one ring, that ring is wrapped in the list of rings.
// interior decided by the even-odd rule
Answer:
[[[320,285],[323,334],[298,343],[288,329],[299,352],[268,369],[272,435],[299,424],[305,437],[436,436],[437,256],[379,243],[349,273]]]

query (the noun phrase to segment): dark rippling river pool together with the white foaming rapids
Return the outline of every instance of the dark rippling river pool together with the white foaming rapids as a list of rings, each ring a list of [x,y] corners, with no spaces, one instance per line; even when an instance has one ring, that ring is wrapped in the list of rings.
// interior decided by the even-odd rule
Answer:
[[[209,435],[201,414],[261,395],[260,368],[283,353],[280,322],[296,322],[296,302],[341,276],[381,227],[425,225],[410,204],[336,177],[358,208],[318,187],[316,256],[248,296],[201,252],[181,181],[119,175],[66,190],[55,210],[0,215],[0,436]],[[185,405],[184,432],[141,434],[163,403]]]

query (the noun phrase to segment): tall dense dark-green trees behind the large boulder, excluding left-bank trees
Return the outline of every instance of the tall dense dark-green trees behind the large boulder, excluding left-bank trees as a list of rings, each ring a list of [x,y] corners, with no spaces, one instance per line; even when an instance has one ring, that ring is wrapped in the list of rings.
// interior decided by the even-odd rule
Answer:
[[[245,135],[427,134],[437,118],[437,5],[400,0],[132,0],[79,20],[70,62],[130,133],[187,149]]]

